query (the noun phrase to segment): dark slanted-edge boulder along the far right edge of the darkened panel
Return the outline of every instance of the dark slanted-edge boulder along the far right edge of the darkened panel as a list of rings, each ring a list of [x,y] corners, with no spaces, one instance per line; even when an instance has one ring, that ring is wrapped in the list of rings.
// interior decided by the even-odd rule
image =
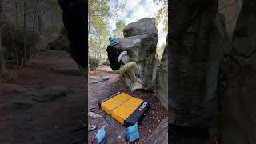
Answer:
[[[256,143],[256,2],[243,0],[232,39],[218,133],[220,143]]]

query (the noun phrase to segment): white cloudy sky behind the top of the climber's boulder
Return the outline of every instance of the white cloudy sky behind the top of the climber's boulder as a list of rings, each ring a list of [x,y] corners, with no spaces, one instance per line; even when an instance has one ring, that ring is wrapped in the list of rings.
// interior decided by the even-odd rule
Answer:
[[[117,17],[109,20],[110,30],[115,29],[115,23],[123,19],[128,25],[136,22],[141,18],[153,18],[157,14],[160,6],[155,6],[153,0],[110,0],[110,9],[115,9],[118,3],[124,3],[125,7]],[[166,34],[162,23],[158,24],[158,46],[162,46],[166,42]]]

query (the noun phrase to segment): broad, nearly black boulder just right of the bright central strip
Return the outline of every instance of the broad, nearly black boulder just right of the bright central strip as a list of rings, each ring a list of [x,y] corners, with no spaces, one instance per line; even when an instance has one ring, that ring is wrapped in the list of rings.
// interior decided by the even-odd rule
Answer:
[[[206,128],[218,106],[218,1],[173,0],[171,6],[168,103],[175,112],[172,124]]]

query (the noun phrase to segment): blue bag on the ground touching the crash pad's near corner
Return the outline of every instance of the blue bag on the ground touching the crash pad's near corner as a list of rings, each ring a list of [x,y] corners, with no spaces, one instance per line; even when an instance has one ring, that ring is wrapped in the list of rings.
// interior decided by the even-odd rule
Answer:
[[[134,124],[134,126],[127,127],[126,129],[126,139],[128,142],[134,142],[138,140],[138,122]]]

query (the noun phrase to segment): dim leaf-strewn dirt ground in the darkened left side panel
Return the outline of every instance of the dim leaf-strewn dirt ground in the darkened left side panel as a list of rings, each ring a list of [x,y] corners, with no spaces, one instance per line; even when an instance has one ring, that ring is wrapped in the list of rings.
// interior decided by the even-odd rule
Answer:
[[[63,51],[47,50],[0,85],[1,143],[83,143],[86,78]]]

